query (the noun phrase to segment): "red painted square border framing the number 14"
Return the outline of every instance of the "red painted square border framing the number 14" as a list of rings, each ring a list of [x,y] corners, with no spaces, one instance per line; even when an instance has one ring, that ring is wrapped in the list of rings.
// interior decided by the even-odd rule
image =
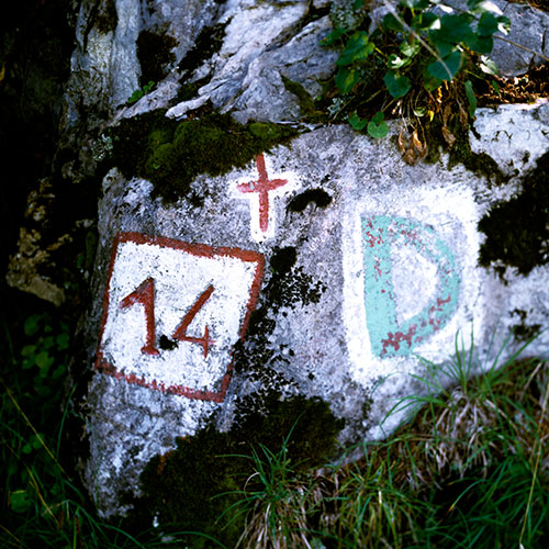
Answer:
[[[146,386],[148,389],[153,389],[156,391],[161,391],[164,393],[178,394],[180,396],[187,396],[188,399],[200,399],[204,401],[212,402],[223,402],[225,399],[225,393],[228,389],[228,383],[231,382],[231,376],[233,373],[233,354],[231,352],[231,362],[227,366],[227,370],[225,376],[221,381],[221,389],[217,392],[213,391],[199,391],[197,389],[192,389],[184,385],[169,385],[166,386],[164,383],[158,383],[156,380],[147,381],[145,378],[137,378],[134,373],[124,374],[116,370],[116,368],[108,362],[103,357],[103,351],[101,350],[101,343],[103,340],[104,327],[107,325],[107,317],[109,314],[109,302],[110,302],[110,287],[111,287],[111,278],[114,270],[114,261],[116,260],[116,255],[119,251],[119,246],[126,242],[133,242],[135,244],[152,244],[156,246],[160,246],[163,248],[175,248],[181,249],[197,257],[236,257],[242,259],[243,261],[255,262],[256,272],[254,274],[254,281],[251,282],[251,288],[249,291],[249,300],[246,304],[246,314],[244,316],[244,321],[242,323],[240,328],[240,339],[244,339],[246,336],[246,330],[248,328],[249,317],[251,312],[257,306],[257,300],[259,298],[259,291],[261,289],[261,281],[265,273],[265,257],[262,254],[258,251],[253,251],[249,249],[240,249],[240,248],[226,248],[226,247],[216,247],[209,246],[206,244],[191,244],[182,240],[176,240],[173,238],[167,238],[165,236],[146,236],[141,233],[119,233],[114,237],[114,243],[111,253],[111,261],[109,265],[109,270],[107,274],[107,287],[103,294],[103,314],[101,316],[101,328],[99,333],[99,343],[98,343],[98,351],[94,369],[112,376],[116,379],[124,379],[128,383],[133,383],[139,386]]]

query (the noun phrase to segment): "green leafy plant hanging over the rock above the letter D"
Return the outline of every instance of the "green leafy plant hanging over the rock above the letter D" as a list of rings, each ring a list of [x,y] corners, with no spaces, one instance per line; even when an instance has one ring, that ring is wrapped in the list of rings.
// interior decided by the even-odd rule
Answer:
[[[351,18],[336,12],[334,30],[323,41],[340,47],[328,111],[377,138],[389,132],[388,112],[415,121],[410,136],[413,155],[408,160],[413,164],[426,150],[418,135],[421,119],[433,121],[438,115],[451,146],[448,120],[457,113],[467,126],[474,116],[475,81],[489,80],[496,89],[491,77],[497,68],[489,54],[493,35],[497,31],[506,34],[511,23],[486,0],[468,0],[461,10],[441,0],[385,2],[388,13],[381,22],[363,4],[363,0],[351,3]]]

